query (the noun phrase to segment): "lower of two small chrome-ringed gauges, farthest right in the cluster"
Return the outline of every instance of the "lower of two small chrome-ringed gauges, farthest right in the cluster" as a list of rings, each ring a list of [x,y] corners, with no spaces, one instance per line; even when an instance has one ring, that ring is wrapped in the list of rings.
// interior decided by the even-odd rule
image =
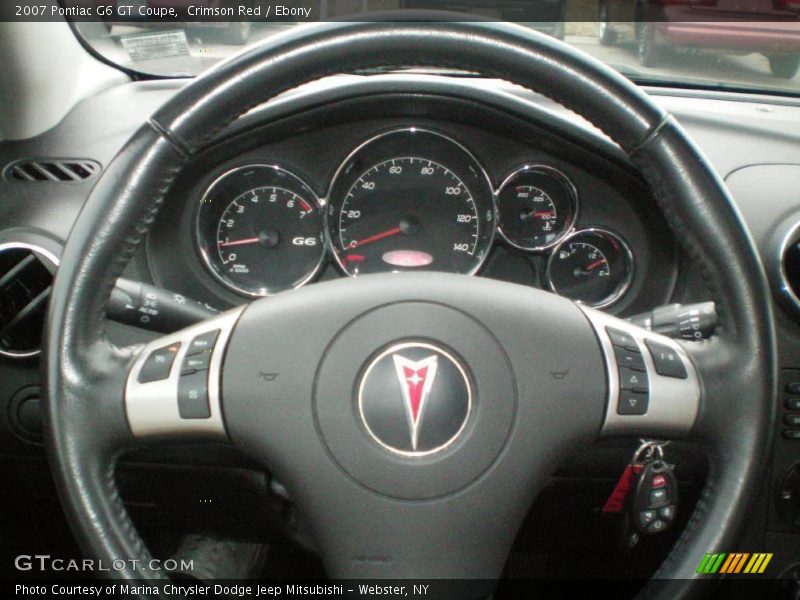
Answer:
[[[559,296],[602,308],[630,287],[633,254],[618,235],[584,229],[567,236],[550,255],[547,282]]]

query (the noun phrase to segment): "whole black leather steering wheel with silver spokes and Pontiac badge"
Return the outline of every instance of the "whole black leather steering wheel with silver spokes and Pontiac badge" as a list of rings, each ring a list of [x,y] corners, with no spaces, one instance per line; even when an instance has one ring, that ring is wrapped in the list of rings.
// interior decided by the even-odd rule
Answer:
[[[506,79],[603,130],[704,265],[721,320],[715,338],[678,343],[544,291],[403,273],[283,293],[146,346],[106,339],[115,279],[182,166],[220,130],[300,84],[408,65]],[[616,346],[647,367],[649,393],[633,403]],[[190,385],[181,371],[192,357],[205,362],[191,363],[201,375]],[[576,447],[610,435],[688,436],[712,467],[656,575],[674,580],[658,587],[670,598],[696,591],[708,577],[695,573],[703,554],[741,535],[776,381],[760,261],[681,127],[587,55],[477,22],[297,28],[186,86],[122,148],[80,213],[53,288],[46,360],[51,465],[89,556],[149,560],[114,482],[116,458],[142,440],[225,440],[259,460],[308,519],[332,577],[496,579],[537,493]],[[164,577],[132,567],[114,576]]]

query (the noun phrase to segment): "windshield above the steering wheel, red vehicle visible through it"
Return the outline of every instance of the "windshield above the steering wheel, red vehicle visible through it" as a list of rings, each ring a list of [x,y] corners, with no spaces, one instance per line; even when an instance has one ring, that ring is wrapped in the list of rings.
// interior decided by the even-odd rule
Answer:
[[[75,22],[75,31],[120,67],[148,76],[194,76],[305,22],[436,9],[437,18],[452,11],[513,20],[563,39],[639,83],[800,93],[800,0],[749,1],[744,11],[732,0],[651,0],[644,14],[636,0],[137,0],[122,13],[121,3],[103,18],[93,13]],[[536,10],[529,10],[533,5]],[[238,16],[246,11],[257,12]],[[231,15],[248,20],[220,20]],[[579,20],[589,15],[593,20]]]

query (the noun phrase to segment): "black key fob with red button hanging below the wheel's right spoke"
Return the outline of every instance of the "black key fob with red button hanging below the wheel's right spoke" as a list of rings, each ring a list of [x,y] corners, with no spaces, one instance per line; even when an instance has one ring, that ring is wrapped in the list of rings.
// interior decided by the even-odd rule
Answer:
[[[677,505],[678,480],[672,467],[660,459],[648,462],[631,495],[633,528],[642,534],[666,531],[675,520]]]

